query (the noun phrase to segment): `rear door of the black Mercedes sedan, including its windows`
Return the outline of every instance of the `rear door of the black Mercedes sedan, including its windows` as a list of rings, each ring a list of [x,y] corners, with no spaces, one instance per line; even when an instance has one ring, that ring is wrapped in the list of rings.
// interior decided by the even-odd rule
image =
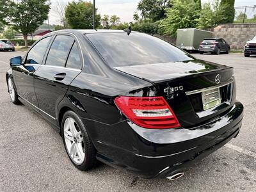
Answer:
[[[56,35],[49,47],[49,52],[42,65],[35,73],[35,93],[38,99],[40,113],[52,122],[56,122],[56,108],[65,97],[69,84],[81,72],[83,61],[75,38],[70,35]],[[78,54],[76,62],[79,67],[69,67],[74,64],[74,51]],[[69,56],[69,57],[68,57]],[[66,67],[67,65],[67,67]]]

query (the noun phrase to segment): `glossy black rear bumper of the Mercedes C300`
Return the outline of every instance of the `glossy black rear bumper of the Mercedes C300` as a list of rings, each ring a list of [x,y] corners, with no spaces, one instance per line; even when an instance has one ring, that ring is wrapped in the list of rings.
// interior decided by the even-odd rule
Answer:
[[[126,168],[140,177],[168,177],[179,171],[184,172],[189,164],[208,156],[236,137],[242,119],[243,105],[236,102],[233,108],[220,118],[196,129],[176,130],[176,134],[173,132],[175,129],[168,129],[172,134],[167,137],[164,130],[152,132],[150,129],[141,128],[144,130],[141,134],[132,127],[134,138],[130,138],[131,143],[127,143],[131,145],[132,150],[97,141],[97,159],[111,166]],[[127,126],[127,122],[121,124]]]

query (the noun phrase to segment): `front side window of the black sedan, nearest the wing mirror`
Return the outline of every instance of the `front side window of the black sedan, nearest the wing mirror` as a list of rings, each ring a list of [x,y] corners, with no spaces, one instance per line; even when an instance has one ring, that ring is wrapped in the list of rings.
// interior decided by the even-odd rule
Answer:
[[[50,40],[51,36],[47,36],[40,40],[40,42],[38,42],[34,47],[32,47],[28,53],[26,63],[41,64]]]

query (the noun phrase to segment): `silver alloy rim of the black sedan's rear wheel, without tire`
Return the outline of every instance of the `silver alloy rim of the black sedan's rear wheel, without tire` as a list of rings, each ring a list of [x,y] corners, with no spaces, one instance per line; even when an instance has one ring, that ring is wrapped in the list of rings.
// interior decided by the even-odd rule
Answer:
[[[85,156],[85,147],[83,136],[72,117],[68,117],[64,122],[64,139],[68,155],[76,164],[83,164]]]

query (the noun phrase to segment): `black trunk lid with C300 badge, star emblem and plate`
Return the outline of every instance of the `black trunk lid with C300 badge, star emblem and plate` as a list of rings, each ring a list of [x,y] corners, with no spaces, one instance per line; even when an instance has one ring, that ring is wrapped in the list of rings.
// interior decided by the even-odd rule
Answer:
[[[236,97],[233,68],[224,65],[192,60],[115,69],[154,84],[184,128],[216,118],[231,108]]]

